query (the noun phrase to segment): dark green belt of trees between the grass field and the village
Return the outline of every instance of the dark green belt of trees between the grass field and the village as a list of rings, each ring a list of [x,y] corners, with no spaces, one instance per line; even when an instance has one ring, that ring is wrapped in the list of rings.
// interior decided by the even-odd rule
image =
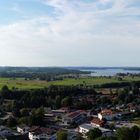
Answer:
[[[93,88],[80,88],[77,86],[50,86],[34,90],[10,90],[4,86],[0,92],[1,99],[15,100],[14,108],[37,108],[49,106],[54,109],[71,106],[73,97],[78,95],[96,95]]]

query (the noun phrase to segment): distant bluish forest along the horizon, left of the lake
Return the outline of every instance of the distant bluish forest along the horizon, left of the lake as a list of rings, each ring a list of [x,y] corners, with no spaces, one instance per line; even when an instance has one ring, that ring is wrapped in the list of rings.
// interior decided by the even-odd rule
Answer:
[[[25,78],[28,79],[40,79],[40,80],[61,80],[64,74],[79,75],[83,72],[79,70],[72,70],[67,68],[49,68],[49,67],[0,67],[0,76],[8,78]]]

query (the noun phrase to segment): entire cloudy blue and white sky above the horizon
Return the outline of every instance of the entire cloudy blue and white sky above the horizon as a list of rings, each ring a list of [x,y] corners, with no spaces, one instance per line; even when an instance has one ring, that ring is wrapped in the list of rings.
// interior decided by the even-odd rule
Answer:
[[[0,0],[0,66],[140,66],[140,0]]]

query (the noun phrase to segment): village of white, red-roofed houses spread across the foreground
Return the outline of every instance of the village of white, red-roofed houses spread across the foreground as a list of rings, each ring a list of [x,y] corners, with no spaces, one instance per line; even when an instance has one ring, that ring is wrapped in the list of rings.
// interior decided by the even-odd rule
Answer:
[[[116,98],[116,95],[96,96],[103,96],[102,98],[109,97],[111,100]],[[139,97],[139,95],[136,96]],[[140,105],[134,105],[130,102],[112,105],[107,103],[107,101],[105,104],[95,107],[95,95],[92,94],[73,97],[73,102],[83,101],[83,99],[88,101],[86,102],[87,106],[92,103],[93,107],[91,109],[75,109],[71,106],[64,106],[58,109],[43,107],[44,126],[17,124],[13,129],[1,125],[0,138],[3,140],[56,140],[57,133],[62,130],[67,134],[67,140],[77,140],[78,136],[86,139],[86,134],[95,128],[102,132],[102,136],[112,137],[119,128],[138,127],[138,124],[134,123],[130,118],[139,115]],[[30,113],[29,115],[31,115]],[[3,119],[7,120],[10,117],[13,117],[13,113],[9,113]]]

